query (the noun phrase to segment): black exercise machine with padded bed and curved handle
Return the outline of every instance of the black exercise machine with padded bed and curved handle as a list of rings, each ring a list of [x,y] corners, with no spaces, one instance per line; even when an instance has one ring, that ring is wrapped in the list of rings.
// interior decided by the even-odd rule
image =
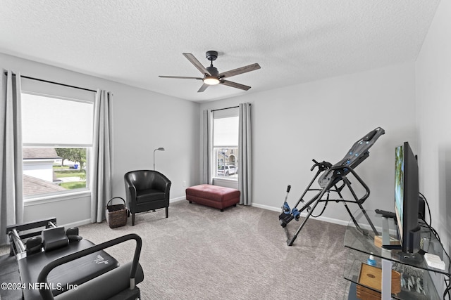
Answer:
[[[144,272],[138,235],[95,245],[82,239],[78,228],[64,230],[55,224],[56,219],[49,218],[6,228],[24,300],[140,299],[136,285],[144,279]],[[119,266],[104,249],[128,240],[136,241],[135,254],[132,261]]]

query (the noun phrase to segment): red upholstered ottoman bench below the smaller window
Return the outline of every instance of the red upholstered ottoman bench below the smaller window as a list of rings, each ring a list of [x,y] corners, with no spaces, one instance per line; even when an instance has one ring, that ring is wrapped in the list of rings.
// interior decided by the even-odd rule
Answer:
[[[224,211],[226,207],[237,206],[240,202],[240,191],[218,185],[194,185],[186,189],[186,200]]]

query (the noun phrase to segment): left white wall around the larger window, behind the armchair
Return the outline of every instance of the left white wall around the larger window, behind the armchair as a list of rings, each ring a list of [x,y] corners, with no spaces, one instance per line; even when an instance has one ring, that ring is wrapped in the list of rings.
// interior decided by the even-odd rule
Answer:
[[[156,169],[172,181],[171,200],[183,199],[185,187],[199,178],[199,104],[114,81],[71,72],[0,53],[0,67],[23,75],[86,89],[113,92],[113,196],[125,197],[123,175],[132,169]],[[42,200],[25,204],[25,221],[56,216],[60,225],[90,219],[90,198]]]

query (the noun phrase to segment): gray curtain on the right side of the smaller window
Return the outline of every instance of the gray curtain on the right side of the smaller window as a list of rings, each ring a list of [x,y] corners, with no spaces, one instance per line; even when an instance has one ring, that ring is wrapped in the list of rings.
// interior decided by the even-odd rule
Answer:
[[[252,145],[251,110],[249,103],[240,103],[240,126],[238,133],[238,187],[240,204],[252,204]]]

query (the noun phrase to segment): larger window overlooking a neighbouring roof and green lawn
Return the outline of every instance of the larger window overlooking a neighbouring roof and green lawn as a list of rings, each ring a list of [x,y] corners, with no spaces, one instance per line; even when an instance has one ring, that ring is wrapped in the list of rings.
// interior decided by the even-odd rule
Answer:
[[[94,93],[87,98],[22,93],[25,200],[89,189]]]

